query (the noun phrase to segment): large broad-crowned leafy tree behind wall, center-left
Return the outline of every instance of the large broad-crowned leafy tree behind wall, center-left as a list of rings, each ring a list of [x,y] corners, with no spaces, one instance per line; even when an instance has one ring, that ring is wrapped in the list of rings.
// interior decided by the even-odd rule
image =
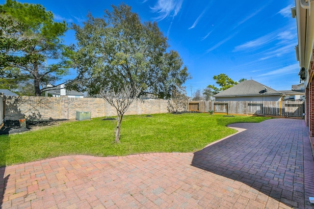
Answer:
[[[78,78],[71,83],[73,89],[93,96],[130,83],[142,93],[169,98],[189,78],[179,53],[168,50],[157,23],[141,23],[130,6],[112,6],[101,18],[91,14],[87,18],[83,26],[73,25],[78,47],[74,59]]]

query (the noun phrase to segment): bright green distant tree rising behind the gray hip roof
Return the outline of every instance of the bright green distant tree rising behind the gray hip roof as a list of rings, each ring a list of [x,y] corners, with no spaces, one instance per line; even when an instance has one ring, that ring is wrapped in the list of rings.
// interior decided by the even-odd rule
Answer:
[[[246,80],[245,78],[240,79],[238,82],[234,81],[233,79],[229,78],[226,74],[219,74],[217,76],[213,76],[213,79],[216,81],[216,83],[220,86],[220,88],[216,87],[215,85],[208,85],[207,89],[211,89],[213,94],[218,94],[221,91],[224,91],[239,82],[242,82]]]

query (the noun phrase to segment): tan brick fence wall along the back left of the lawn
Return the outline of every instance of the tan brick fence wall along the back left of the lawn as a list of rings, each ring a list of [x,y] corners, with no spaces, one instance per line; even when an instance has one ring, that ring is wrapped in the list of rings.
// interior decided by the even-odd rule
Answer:
[[[91,117],[115,116],[114,107],[101,98],[5,97],[5,119],[47,120],[75,119],[77,111],[91,112]],[[167,100],[136,100],[126,115],[167,113]]]

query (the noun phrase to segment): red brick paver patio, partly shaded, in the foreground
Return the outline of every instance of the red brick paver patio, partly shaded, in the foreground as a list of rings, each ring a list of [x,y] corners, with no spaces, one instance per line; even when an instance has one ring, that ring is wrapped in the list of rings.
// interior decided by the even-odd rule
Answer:
[[[65,156],[0,168],[7,208],[312,208],[314,160],[303,120],[245,129],[196,153]]]

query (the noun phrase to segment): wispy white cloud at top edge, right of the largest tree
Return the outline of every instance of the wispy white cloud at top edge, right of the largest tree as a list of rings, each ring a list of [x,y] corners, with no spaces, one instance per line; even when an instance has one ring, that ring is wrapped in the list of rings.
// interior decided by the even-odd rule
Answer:
[[[151,7],[153,12],[159,14],[155,20],[161,21],[169,17],[174,18],[179,13],[183,0],[158,0],[154,7]]]

